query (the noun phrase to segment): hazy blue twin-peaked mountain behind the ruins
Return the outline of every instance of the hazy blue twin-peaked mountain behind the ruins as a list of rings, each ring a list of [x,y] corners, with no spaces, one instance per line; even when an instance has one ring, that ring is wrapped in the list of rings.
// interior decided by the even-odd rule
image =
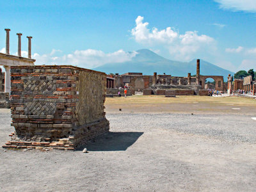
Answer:
[[[159,56],[155,52],[148,49],[140,49],[138,54],[132,58],[131,61],[124,63],[106,63],[93,70],[99,70],[102,72],[125,74],[126,72],[142,72],[143,75],[157,74],[170,74],[172,76],[188,76],[196,74],[196,59],[189,62],[173,61]],[[204,60],[200,60],[200,74],[204,76],[228,76],[228,74],[234,75],[234,72],[225,70]]]

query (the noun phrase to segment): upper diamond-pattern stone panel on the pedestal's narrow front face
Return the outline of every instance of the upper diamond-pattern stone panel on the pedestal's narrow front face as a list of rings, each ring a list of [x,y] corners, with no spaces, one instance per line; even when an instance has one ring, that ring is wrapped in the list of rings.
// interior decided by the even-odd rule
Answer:
[[[51,94],[56,91],[55,80],[24,80],[25,92]]]

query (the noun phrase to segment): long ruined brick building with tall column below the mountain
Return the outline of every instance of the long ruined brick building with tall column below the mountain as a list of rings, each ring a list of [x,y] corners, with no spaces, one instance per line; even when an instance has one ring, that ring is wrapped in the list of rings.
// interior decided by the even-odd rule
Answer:
[[[196,63],[196,77],[175,77],[167,74],[157,74],[154,76],[143,76],[142,73],[115,74],[107,77],[108,94],[115,94],[115,88],[124,88],[129,85],[131,90],[152,90],[148,94],[164,95],[165,90],[175,90],[176,95],[198,95],[200,90],[205,89],[205,80],[212,78],[216,82],[215,89],[224,91],[225,86],[223,76],[200,76],[200,60]]]

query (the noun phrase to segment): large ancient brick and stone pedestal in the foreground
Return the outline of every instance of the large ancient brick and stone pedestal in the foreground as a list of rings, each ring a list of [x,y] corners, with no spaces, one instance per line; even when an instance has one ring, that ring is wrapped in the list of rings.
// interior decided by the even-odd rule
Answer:
[[[4,148],[74,150],[109,131],[106,74],[72,66],[12,67],[15,132]]]

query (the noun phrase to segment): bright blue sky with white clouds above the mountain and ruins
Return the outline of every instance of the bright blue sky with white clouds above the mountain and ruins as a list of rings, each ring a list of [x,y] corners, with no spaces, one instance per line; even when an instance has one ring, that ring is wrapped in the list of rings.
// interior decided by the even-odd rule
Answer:
[[[33,36],[36,64],[93,68],[150,49],[171,60],[200,58],[236,72],[255,68],[255,0],[0,1],[0,50],[22,55]]]

